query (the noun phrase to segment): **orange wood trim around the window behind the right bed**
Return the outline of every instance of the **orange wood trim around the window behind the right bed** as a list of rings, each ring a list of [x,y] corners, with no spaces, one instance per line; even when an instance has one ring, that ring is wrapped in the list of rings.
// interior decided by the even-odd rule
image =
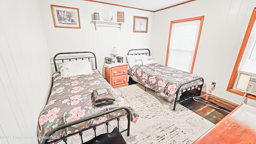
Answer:
[[[200,28],[199,28],[199,32],[198,32],[198,37],[197,37],[197,40],[196,40],[196,48],[195,48],[195,52],[194,52],[193,62],[192,62],[191,70],[190,70],[190,73],[193,73],[194,63],[195,63],[195,60],[196,60],[196,52],[197,52],[197,48],[198,48],[198,44],[199,44],[199,39],[200,39],[201,31],[202,31],[202,26],[203,26],[203,22],[204,22],[204,16],[198,16],[198,17],[194,17],[194,18],[186,18],[186,19],[182,19],[182,20],[171,21],[165,66],[167,66],[167,62],[168,62],[170,40],[171,40],[171,32],[172,32],[172,24],[173,23],[177,23],[177,22],[187,22],[187,21],[191,21],[191,20],[201,20]]]

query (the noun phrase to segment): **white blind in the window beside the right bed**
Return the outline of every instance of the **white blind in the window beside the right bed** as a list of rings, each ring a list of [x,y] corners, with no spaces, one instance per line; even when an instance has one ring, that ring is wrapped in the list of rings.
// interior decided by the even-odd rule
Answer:
[[[201,20],[172,24],[167,66],[190,72]]]

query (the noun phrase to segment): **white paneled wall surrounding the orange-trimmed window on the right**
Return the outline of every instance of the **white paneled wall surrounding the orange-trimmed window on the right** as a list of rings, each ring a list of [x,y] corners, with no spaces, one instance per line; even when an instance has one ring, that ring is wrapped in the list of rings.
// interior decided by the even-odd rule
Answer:
[[[240,104],[241,96],[226,88],[254,7],[255,0],[196,0],[155,12],[152,54],[165,64],[170,22],[204,16],[193,72],[204,77],[206,90],[215,81],[212,94]]]

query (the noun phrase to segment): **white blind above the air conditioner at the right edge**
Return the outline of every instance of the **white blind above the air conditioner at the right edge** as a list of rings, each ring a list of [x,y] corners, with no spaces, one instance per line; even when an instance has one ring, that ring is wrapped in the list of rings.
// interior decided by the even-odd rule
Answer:
[[[238,70],[256,74],[256,22],[252,27]]]

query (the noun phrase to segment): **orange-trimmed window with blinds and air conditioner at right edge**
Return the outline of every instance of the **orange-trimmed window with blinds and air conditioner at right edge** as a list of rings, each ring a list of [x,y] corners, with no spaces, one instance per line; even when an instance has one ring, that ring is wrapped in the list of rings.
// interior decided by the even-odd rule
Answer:
[[[256,96],[256,8],[252,12],[227,91]]]

